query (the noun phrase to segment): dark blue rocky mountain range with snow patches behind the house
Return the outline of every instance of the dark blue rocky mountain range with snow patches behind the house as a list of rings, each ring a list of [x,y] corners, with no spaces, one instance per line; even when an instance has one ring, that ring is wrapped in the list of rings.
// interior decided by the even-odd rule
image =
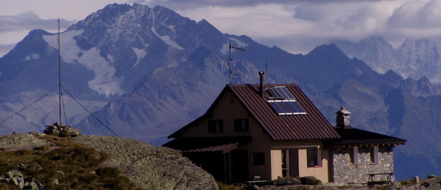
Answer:
[[[109,128],[160,145],[204,113],[229,83],[230,43],[247,49],[232,50],[239,70],[232,83],[258,83],[257,73],[268,63],[266,82],[298,83],[330,123],[344,106],[354,127],[407,139],[395,149],[399,178],[441,168],[440,90],[430,77],[404,80],[389,67],[378,74],[346,56],[338,43],[293,55],[244,35],[222,34],[206,20],[195,22],[160,6],[110,4],[61,34],[63,87],[93,112],[89,115],[64,92],[67,124],[86,134],[115,135]],[[56,34],[34,30],[0,58],[0,115],[12,115],[56,87],[56,47]],[[370,60],[400,61],[385,41],[373,39],[353,49],[358,47]],[[49,93],[0,121],[0,133],[43,130],[58,120],[57,103],[58,94]]]

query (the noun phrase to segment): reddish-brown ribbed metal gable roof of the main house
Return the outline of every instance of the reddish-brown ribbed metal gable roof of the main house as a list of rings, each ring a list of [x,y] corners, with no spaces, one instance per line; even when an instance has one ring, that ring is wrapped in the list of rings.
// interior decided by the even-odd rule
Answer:
[[[273,140],[285,141],[340,137],[331,124],[318,111],[314,104],[312,104],[310,99],[306,97],[299,86],[296,84],[267,85],[267,87],[275,86],[285,86],[288,91],[292,93],[295,97],[295,101],[303,108],[306,114],[279,115],[269,105],[268,94],[264,93],[263,97],[259,94],[258,84],[233,84],[225,86],[206,114],[194,122],[198,122],[198,120],[204,116],[210,115],[211,110],[216,106],[223,94],[227,91],[231,91]],[[179,137],[180,131],[191,127],[192,123],[171,134],[168,138]]]

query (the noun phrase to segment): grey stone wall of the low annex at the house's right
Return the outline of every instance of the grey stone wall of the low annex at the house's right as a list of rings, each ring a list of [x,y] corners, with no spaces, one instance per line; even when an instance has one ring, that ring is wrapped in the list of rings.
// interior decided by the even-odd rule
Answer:
[[[393,172],[393,152],[390,146],[378,147],[378,163],[370,162],[370,148],[359,147],[358,164],[350,164],[351,148],[333,148],[331,158],[329,181],[335,183],[366,183],[369,175],[374,173]],[[387,175],[377,175],[377,181],[386,180]]]

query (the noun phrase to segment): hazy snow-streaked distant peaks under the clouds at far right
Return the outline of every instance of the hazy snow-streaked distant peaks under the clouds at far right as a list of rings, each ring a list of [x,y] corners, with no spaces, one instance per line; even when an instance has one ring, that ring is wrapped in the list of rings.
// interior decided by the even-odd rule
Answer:
[[[393,48],[383,37],[369,37],[358,42],[334,40],[341,50],[350,57],[363,60],[379,73],[393,70],[403,78],[427,77],[431,82],[440,83],[441,43],[439,37],[406,39]]]

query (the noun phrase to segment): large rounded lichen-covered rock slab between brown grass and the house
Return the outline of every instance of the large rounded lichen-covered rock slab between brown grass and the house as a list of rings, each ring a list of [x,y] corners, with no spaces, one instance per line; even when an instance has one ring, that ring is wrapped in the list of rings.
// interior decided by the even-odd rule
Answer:
[[[103,165],[118,167],[140,188],[151,190],[217,190],[212,175],[194,166],[180,151],[127,138],[79,136],[75,142],[108,153]]]

